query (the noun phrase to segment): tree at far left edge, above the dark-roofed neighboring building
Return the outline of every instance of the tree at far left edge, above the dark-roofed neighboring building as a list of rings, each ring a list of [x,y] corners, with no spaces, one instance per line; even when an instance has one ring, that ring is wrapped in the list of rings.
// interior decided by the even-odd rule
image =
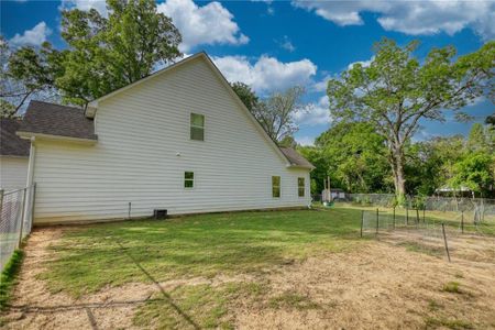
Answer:
[[[0,36],[0,116],[14,117],[31,98],[53,99],[55,77],[59,74],[59,52],[47,42],[40,48],[10,50]]]

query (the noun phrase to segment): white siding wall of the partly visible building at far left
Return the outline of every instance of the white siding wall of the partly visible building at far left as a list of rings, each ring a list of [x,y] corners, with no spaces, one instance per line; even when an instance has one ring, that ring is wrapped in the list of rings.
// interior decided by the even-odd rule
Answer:
[[[25,187],[28,178],[26,157],[0,157],[0,188],[9,191]]]

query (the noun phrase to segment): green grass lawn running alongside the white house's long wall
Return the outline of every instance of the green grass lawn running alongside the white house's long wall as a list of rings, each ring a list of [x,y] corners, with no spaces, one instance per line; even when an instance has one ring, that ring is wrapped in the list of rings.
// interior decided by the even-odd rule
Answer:
[[[199,215],[88,226],[66,232],[41,274],[75,297],[106,285],[260,273],[308,255],[358,246],[360,211],[290,210]]]

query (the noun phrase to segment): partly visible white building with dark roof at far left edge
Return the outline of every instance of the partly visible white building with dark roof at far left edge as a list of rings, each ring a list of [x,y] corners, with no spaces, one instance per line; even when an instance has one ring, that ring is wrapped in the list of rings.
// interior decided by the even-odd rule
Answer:
[[[21,121],[1,119],[0,122],[0,189],[10,191],[25,187],[30,142],[15,135]]]

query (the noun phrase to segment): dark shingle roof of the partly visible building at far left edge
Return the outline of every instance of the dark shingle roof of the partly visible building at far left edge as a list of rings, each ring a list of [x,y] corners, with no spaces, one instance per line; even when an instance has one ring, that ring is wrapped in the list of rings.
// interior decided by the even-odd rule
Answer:
[[[15,135],[21,125],[20,119],[2,118],[0,123],[0,155],[28,157],[31,143]]]

